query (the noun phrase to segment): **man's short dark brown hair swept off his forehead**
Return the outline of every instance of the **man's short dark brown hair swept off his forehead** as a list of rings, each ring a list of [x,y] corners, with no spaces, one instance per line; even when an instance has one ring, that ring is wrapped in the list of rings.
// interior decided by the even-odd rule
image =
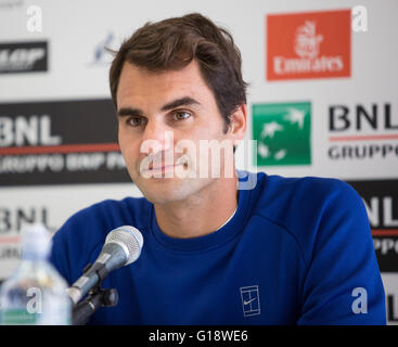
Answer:
[[[110,70],[112,99],[117,107],[117,87],[125,62],[152,72],[180,69],[196,60],[202,77],[213,91],[224,119],[246,103],[242,60],[231,34],[198,13],[146,23],[125,40]]]

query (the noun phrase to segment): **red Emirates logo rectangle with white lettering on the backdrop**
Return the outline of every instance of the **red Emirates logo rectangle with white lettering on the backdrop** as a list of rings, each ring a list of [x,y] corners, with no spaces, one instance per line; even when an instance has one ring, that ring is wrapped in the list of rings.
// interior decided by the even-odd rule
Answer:
[[[351,11],[267,16],[267,79],[349,77]]]

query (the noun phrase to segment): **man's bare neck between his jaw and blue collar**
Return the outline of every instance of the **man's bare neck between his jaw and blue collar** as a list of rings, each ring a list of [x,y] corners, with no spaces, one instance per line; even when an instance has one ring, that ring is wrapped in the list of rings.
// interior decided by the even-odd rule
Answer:
[[[218,230],[237,207],[237,178],[218,179],[184,201],[155,204],[157,224],[168,236],[188,239]]]

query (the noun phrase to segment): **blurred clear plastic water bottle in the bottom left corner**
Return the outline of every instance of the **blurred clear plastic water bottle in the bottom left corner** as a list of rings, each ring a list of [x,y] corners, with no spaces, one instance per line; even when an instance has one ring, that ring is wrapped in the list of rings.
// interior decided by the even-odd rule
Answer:
[[[0,323],[4,325],[72,324],[67,283],[48,261],[49,231],[33,224],[22,232],[22,261],[0,287]]]

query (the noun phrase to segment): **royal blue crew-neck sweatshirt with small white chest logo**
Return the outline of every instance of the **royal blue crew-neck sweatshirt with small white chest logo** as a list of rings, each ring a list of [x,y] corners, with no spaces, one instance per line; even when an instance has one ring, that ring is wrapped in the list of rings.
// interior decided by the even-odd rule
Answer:
[[[100,308],[89,323],[385,324],[357,192],[336,179],[249,177],[257,184],[240,190],[233,218],[204,236],[167,236],[144,197],[104,201],[72,216],[51,254],[69,285],[111,230],[133,226],[144,239],[140,258],[103,283],[118,291],[118,305]]]

